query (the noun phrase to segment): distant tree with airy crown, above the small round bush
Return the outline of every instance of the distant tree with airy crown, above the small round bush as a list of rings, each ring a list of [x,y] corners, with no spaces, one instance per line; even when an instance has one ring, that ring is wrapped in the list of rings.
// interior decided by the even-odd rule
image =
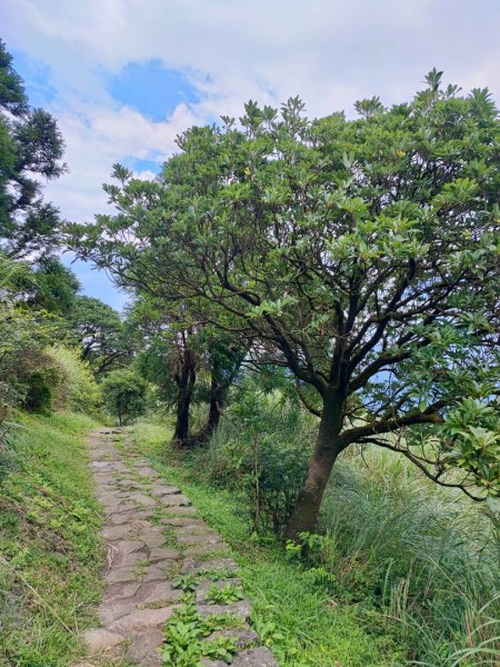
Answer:
[[[120,315],[99,299],[78,296],[68,316],[81,358],[89,361],[96,374],[123,366],[131,355],[129,337]]]

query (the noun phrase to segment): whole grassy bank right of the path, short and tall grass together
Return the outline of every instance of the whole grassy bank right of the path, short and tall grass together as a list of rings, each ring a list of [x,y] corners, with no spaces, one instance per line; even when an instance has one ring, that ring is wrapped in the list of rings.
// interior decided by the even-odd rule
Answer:
[[[233,548],[254,624],[281,665],[498,664],[500,569],[490,517],[390,452],[352,454],[329,486],[324,537],[306,557],[287,554],[252,535],[251,481],[238,462],[243,438],[222,434],[180,454],[164,427],[136,427],[142,452]]]

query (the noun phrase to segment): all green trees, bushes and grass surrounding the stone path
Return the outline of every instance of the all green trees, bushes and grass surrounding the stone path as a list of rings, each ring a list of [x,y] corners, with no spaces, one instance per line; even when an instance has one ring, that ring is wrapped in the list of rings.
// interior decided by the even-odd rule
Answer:
[[[68,222],[57,121],[0,42],[1,666],[84,655],[99,425],[222,534],[280,665],[499,663],[498,109],[434,69],[356,112],[249,102]]]

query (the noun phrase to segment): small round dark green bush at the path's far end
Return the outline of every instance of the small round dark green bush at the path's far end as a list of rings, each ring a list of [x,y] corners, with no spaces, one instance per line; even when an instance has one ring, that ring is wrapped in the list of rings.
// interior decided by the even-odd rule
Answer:
[[[140,417],[146,409],[146,381],[133,370],[113,370],[101,385],[106,409],[121,425]]]

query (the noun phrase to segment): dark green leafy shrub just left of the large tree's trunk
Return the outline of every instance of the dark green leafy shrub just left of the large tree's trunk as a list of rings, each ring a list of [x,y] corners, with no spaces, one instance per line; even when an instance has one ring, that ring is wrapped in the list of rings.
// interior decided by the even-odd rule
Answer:
[[[207,478],[244,489],[253,529],[280,535],[302,487],[317,424],[282,391],[249,381],[203,456]]]

